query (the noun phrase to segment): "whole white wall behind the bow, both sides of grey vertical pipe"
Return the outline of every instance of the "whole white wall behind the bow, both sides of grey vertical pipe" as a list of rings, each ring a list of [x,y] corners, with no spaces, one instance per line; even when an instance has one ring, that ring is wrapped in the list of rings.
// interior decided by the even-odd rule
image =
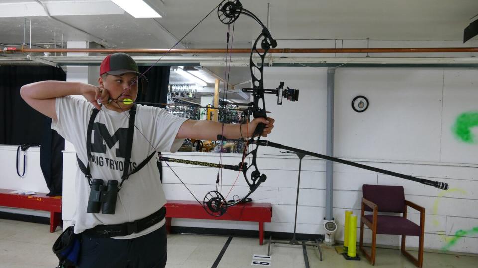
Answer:
[[[334,217],[343,237],[344,213],[352,209],[359,214],[362,184],[403,185],[406,198],[426,208],[425,247],[460,252],[478,252],[477,233],[467,234],[453,246],[447,244],[459,231],[478,226],[478,154],[477,145],[464,144],[455,138],[451,126],[456,117],[478,110],[475,100],[478,71],[438,68],[342,68],[336,72],[335,91],[335,156],[392,171],[424,177],[450,184],[445,192],[436,188],[376,172],[336,164],[334,167]],[[299,102],[284,101],[282,107],[267,97],[267,110],[276,118],[270,141],[325,152],[326,69],[310,67],[266,68],[265,86],[275,88],[278,81],[300,90]],[[363,113],[354,112],[351,101],[365,95],[370,106]],[[267,181],[252,195],[253,200],[273,204],[272,223],[268,231],[292,232],[298,160],[281,155],[274,148],[260,148],[259,168]],[[175,156],[177,156],[176,154]],[[185,155],[201,161],[215,162],[217,157]],[[216,160],[217,161],[217,160]],[[229,156],[225,163],[235,164]],[[201,200],[214,189],[215,169],[174,164],[174,170]],[[193,199],[170,170],[165,169],[167,198]],[[231,185],[235,172],[223,173],[223,185]],[[229,197],[243,195],[247,187],[239,179]],[[225,187],[223,186],[223,189]],[[229,187],[223,190],[229,191]],[[297,231],[323,234],[325,214],[325,162],[306,158],[303,162],[299,197]],[[418,223],[419,214],[409,209],[409,218]],[[174,220],[175,225],[256,230],[255,224]],[[370,232],[365,232],[371,242]],[[409,246],[418,240],[407,239]],[[380,244],[398,246],[398,236],[380,235]]]

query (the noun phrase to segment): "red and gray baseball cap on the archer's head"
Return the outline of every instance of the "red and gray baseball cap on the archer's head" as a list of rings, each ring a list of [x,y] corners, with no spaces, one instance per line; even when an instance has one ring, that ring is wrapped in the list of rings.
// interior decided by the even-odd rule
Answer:
[[[138,74],[139,77],[144,77],[144,75],[139,72],[136,62],[126,53],[119,52],[110,54],[103,59],[100,65],[100,76],[104,73],[121,75],[127,72],[134,72]]]

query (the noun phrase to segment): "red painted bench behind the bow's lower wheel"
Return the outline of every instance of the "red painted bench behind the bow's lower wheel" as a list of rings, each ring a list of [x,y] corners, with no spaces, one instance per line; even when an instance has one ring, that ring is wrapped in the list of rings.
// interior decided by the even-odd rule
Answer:
[[[171,218],[209,219],[209,220],[237,220],[254,221],[259,223],[259,244],[264,241],[264,222],[271,222],[272,206],[270,203],[244,203],[228,207],[226,214],[213,217],[204,211],[197,201],[168,200],[166,207],[166,229],[171,231]]]

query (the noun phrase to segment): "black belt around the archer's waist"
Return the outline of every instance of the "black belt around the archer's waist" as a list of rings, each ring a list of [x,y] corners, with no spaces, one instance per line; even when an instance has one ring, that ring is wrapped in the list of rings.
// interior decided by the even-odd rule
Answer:
[[[133,233],[139,233],[153,226],[154,224],[162,221],[165,216],[166,207],[162,207],[153,214],[133,222],[113,225],[97,225],[91,229],[85,230],[83,233],[94,237],[126,236]]]

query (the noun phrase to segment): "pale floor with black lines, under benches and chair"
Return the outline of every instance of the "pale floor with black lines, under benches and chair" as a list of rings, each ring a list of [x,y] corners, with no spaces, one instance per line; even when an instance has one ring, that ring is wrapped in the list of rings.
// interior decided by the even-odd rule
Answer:
[[[54,268],[58,264],[51,247],[60,234],[49,232],[49,226],[30,222],[0,219],[0,268]],[[210,268],[223,249],[228,237],[182,235],[168,236],[167,268]],[[363,268],[373,267],[365,258],[346,261],[334,247],[322,245],[323,261],[316,248],[308,248],[310,267]],[[252,265],[254,254],[267,255],[267,244],[258,239],[234,237],[230,241],[218,268],[260,267]],[[429,253],[424,254],[423,267],[476,268],[478,256]],[[271,247],[271,268],[305,267],[302,247],[277,245]],[[377,249],[375,267],[415,267],[398,250]]]

